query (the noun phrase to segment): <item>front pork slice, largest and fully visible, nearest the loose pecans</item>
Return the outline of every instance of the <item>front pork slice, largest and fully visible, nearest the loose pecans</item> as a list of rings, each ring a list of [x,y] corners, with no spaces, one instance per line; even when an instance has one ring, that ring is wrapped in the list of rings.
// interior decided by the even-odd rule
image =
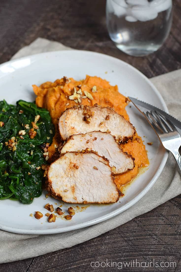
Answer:
[[[95,153],[63,154],[49,166],[46,189],[68,203],[114,203],[120,197],[108,161]]]

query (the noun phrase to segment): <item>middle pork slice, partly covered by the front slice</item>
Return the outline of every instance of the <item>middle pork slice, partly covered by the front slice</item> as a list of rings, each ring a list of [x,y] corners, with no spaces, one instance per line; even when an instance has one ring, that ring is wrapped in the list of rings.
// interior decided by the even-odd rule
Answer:
[[[134,167],[134,158],[123,152],[115,137],[107,132],[93,131],[72,135],[61,147],[60,153],[90,149],[109,160],[112,173],[122,174]]]

